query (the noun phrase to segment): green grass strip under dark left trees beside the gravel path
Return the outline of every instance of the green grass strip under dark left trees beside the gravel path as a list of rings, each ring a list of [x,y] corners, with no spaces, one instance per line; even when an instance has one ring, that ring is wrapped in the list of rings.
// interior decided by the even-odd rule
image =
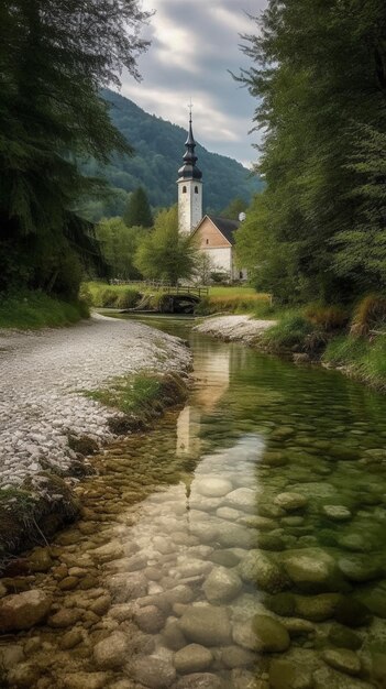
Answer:
[[[42,292],[0,295],[0,328],[37,330],[69,326],[89,316],[86,304],[69,304]]]

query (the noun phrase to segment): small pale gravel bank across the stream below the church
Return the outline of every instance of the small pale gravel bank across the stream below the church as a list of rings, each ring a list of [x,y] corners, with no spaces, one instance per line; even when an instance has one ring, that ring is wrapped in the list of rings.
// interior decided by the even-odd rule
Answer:
[[[251,343],[267,328],[275,325],[274,320],[257,320],[251,316],[216,316],[207,318],[195,330],[211,335],[223,340]]]

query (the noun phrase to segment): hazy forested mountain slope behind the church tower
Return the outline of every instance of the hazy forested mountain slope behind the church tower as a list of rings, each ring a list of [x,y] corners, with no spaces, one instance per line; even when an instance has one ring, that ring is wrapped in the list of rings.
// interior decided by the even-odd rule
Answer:
[[[97,162],[88,162],[89,174],[101,173],[113,188],[109,199],[88,205],[88,217],[99,220],[108,216],[122,216],[128,192],[143,186],[154,208],[166,208],[177,198],[177,169],[185,153],[187,132],[176,124],[148,114],[128,98],[106,90],[103,96],[111,107],[113,124],[135,145],[135,156],[115,156],[103,168]],[[172,114],[172,113],[170,113]],[[195,132],[199,140],[199,132]],[[250,203],[262,183],[236,161],[217,153],[209,153],[197,144],[199,167],[203,173],[205,212],[224,208],[233,196]]]

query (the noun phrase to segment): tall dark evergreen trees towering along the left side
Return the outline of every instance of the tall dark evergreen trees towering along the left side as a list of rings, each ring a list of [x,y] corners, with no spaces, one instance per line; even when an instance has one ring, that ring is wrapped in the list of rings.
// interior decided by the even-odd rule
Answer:
[[[4,0],[0,10],[0,291],[13,284],[77,294],[84,264],[101,266],[78,212],[100,184],[79,156],[130,153],[99,89],[119,84],[145,44],[137,0]]]

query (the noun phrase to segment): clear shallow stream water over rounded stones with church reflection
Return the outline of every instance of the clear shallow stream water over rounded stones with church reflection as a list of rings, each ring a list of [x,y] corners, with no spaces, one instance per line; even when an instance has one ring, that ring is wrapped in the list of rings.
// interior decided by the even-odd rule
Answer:
[[[100,458],[27,579],[54,614],[12,639],[14,686],[385,687],[386,398],[189,337],[189,405]]]

